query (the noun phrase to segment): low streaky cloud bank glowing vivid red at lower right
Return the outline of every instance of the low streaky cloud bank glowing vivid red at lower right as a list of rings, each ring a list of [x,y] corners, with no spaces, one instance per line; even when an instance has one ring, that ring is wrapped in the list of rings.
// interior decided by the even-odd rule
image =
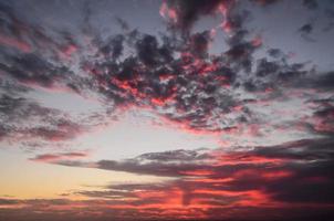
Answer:
[[[240,147],[229,152],[179,149],[144,154],[123,161],[102,160],[93,164],[94,167],[175,179],[109,185],[102,190],[81,190],[72,194],[90,198],[90,202],[81,202],[83,207],[103,202],[115,211],[136,209],[136,213],[143,212],[142,218],[153,218],[150,212],[158,210],[167,218],[185,212],[187,218],[200,215],[206,220],[223,217],[223,212],[232,208],[227,217],[239,218],[243,211],[243,215],[258,220],[265,220],[260,215],[262,212],[278,220],[285,220],[286,214],[298,220],[302,220],[303,214],[316,213],[330,218],[333,144],[332,138],[304,139],[278,146]],[[63,157],[67,155],[55,158]],[[43,157],[34,159],[39,158]],[[77,165],[86,167],[87,164]],[[103,208],[100,207],[100,211],[104,214]],[[206,209],[194,213],[192,210],[199,208]]]

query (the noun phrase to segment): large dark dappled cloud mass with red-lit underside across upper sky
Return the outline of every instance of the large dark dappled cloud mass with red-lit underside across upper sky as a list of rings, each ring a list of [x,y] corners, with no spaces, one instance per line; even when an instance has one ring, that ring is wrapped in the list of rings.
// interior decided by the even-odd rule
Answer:
[[[272,59],[254,56],[264,42],[247,28],[251,12],[242,10],[239,4],[237,7],[236,2],[212,1],[202,7],[200,2],[168,1],[163,6],[168,14],[171,13],[168,10],[175,9],[181,18],[177,25],[189,31],[202,15],[227,10],[225,21],[230,32],[226,50],[221,55],[210,54],[209,45],[215,36],[209,30],[181,36],[166,32],[157,36],[133,30],[129,25],[127,31],[108,38],[95,30],[83,44],[83,38],[77,33],[42,30],[14,12],[8,14],[6,11],[10,25],[20,22],[22,27],[29,27],[31,31],[24,29],[22,34],[34,42],[33,52],[4,54],[1,70],[9,77],[6,81],[17,81],[32,90],[38,85],[53,91],[69,90],[82,96],[97,95],[113,104],[115,109],[145,106],[189,131],[228,131],[230,135],[233,131],[246,134],[244,128],[250,125],[255,127],[260,124],[258,115],[270,116],[268,113],[272,113],[273,107],[264,103],[274,94],[273,101],[276,101],[278,94],[284,96],[284,91],[295,87],[294,82],[305,81],[307,87],[311,84],[306,82],[312,70],[307,70],[304,63],[289,63],[288,55],[280,53],[279,49],[269,50]],[[45,45],[49,45],[50,53],[42,56]],[[311,87],[325,86],[321,85],[319,75]],[[324,82],[328,84],[330,81]],[[244,102],[243,97],[248,95],[258,105],[263,104],[261,112]],[[301,102],[306,98],[299,97]],[[269,117],[268,120],[267,124],[276,127]],[[71,139],[81,131],[75,129],[80,126],[73,120],[54,127],[59,128],[58,131],[50,127],[31,131],[49,140]],[[73,136],[69,130],[74,131]]]

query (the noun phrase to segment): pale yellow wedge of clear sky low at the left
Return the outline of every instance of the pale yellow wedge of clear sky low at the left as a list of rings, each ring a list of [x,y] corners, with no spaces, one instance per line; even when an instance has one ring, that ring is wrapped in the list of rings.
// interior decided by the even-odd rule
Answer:
[[[62,193],[100,189],[107,185],[158,182],[163,178],[93,168],[74,168],[29,161],[24,157],[0,155],[0,197],[17,199],[64,198]],[[70,196],[70,199],[82,199]]]

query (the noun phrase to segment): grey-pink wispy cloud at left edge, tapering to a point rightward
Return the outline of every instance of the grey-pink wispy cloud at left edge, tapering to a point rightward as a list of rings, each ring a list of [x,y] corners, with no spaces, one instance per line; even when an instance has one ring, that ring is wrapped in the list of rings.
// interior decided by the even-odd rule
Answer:
[[[60,109],[40,106],[14,94],[0,96],[0,113],[1,141],[27,148],[29,143],[32,146],[50,146],[72,140],[98,124],[93,118],[90,122],[73,119]]]

